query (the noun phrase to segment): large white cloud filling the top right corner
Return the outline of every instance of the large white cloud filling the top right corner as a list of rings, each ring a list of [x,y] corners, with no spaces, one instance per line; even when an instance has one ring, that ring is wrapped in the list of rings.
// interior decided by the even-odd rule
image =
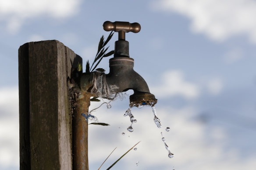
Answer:
[[[161,0],[155,1],[152,8],[190,18],[192,31],[213,40],[247,35],[256,43],[255,0]]]

